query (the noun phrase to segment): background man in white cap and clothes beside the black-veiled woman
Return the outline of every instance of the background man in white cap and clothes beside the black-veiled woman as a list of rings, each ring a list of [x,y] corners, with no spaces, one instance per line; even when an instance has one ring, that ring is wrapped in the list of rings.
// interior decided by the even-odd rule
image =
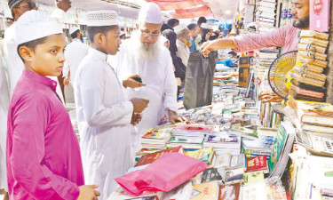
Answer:
[[[187,67],[188,59],[190,58],[191,38],[190,31],[185,24],[180,24],[174,28],[177,34],[177,49],[176,55],[181,59],[185,67]]]

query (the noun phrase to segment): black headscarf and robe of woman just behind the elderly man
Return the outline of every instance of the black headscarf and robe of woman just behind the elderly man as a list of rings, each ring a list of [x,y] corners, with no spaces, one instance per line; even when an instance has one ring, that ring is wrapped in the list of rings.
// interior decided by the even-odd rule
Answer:
[[[185,79],[185,72],[186,67],[181,61],[180,58],[177,57],[176,52],[178,52],[176,41],[177,41],[177,34],[170,29],[166,29],[162,33],[169,40],[169,51],[172,58],[173,66],[175,66],[175,76],[179,77],[182,81]]]

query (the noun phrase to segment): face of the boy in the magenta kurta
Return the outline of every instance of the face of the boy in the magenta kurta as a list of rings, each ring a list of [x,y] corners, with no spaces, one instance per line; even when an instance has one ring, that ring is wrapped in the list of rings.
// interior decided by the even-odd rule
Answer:
[[[59,76],[65,62],[66,38],[63,34],[48,36],[44,44],[29,51],[26,68],[41,76]]]

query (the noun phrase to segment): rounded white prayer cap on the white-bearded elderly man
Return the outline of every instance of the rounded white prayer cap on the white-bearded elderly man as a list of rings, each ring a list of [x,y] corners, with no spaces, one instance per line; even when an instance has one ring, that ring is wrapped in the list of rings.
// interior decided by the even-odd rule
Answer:
[[[148,3],[141,7],[138,22],[147,22],[150,24],[162,24],[162,12],[155,3]]]

